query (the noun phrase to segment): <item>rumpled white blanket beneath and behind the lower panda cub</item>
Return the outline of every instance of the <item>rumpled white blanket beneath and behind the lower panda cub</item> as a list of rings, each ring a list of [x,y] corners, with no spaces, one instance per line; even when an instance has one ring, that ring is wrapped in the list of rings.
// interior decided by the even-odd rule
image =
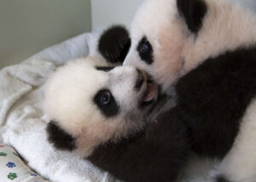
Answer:
[[[90,162],[55,151],[45,134],[44,82],[56,66],[89,54],[91,41],[91,34],[83,34],[0,71],[0,143],[14,146],[31,168],[51,181],[115,181]]]

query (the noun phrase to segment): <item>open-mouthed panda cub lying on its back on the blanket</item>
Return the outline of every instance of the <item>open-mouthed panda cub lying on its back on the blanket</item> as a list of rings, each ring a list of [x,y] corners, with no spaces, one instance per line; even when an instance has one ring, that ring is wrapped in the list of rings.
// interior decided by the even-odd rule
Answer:
[[[125,46],[109,39],[113,47],[120,46],[113,53],[102,43],[104,35],[111,37],[116,30],[110,28],[99,41],[99,52],[107,61],[71,60],[46,82],[49,142],[124,181],[176,181],[188,155],[187,131],[171,112],[156,118],[161,122],[148,122],[166,104],[167,95],[159,95],[158,86],[145,72],[114,67],[122,61],[119,55]]]

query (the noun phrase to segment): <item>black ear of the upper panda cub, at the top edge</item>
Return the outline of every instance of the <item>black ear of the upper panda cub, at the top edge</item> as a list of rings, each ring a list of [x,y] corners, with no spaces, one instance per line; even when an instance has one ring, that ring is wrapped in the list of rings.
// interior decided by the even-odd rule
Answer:
[[[207,4],[202,0],[177,0],[177,9],[186,21],[189,31],[196,34],[207,14]]]

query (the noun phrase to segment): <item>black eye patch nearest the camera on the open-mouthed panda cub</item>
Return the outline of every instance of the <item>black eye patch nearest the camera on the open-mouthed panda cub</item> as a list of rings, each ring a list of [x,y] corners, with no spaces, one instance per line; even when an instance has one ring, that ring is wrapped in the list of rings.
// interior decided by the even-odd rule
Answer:
[[[119,112],[119,105],[108,89],[100,90],[94,97],[94,102],[106,117],[113,117]]]

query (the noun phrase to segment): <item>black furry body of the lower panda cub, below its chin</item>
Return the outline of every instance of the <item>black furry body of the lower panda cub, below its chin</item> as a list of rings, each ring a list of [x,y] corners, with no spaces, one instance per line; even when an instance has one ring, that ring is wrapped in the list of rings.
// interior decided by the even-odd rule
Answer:
[[[158,119],[145,132],[100,145],[88,159],[126,182],[176,181],[188,156],[186,130],[175,112]]]

